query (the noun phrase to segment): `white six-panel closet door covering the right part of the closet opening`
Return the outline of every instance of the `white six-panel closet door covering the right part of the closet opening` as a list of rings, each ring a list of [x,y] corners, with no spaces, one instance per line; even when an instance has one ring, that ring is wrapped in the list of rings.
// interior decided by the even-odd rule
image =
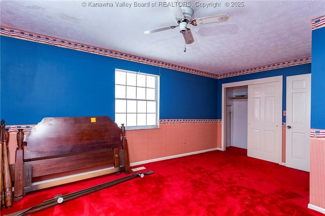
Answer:
[[[280,82],[248,85],[247,155],[280,162],[282,130]]]

